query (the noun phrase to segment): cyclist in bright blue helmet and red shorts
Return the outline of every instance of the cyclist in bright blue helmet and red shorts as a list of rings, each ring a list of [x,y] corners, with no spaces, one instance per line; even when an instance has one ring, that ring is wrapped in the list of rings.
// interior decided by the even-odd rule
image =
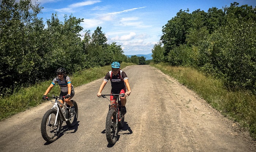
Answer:
[[[101,91],[105,87],[106,83],[110,80],[111,82],[111,93],[112,94],[121,94],[124,93],[124,97],[120,97],[121,103],[122,103],[122,113],[126,113],[126,97],[131,94],[131,87],[128,82],[128,77],[126,73],[122,70],[120,70],[120,63],[119,62],[113,62],[111,64],[112,70],[109,71],[105,78],[103,79],[103,82],[101,86],[99,87],[99,91],[97,93],[97,96],[101,96]],[[113,96],[110,96],[110,101],[113,101]]]

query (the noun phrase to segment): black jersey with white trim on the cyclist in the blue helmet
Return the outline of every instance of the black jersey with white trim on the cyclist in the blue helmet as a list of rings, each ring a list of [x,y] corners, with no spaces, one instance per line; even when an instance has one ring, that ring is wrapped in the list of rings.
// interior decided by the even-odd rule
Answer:
[[[106,76],[104,78],[104,81],[106,81],[106,82],[109,81],[111,72],[112,71],[109,71],[106,74]],[[120,74],[121,74],[121,77],[119,76],[119,72],[118,72],[117,75],[112,74],[112,79],[110,79],[111,87],[114,90],[120,90],[120,89],[125,88],[124,80],[128,79],[128,77],[127,77],[126,73],[124,71],[122,71],[122,70],[120,70]]]

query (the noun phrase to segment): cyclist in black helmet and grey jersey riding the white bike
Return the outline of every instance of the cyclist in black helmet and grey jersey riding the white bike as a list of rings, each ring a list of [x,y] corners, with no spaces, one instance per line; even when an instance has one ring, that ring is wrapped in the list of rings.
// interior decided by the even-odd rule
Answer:
[[[53,86],[58,83],[60,86],[60,97],[64,97],[64,101],[71,107],[70,113],[75,113],[75,106],[72,104],[70,99],[74,97],[75,91],[74,87],[71,84],[71,79],[66,75],[66,70],[64,68],[57,69],[57,77],[55,77],[52,80],[52,83],[48,87],[48,89],[45,91],[45,94],[43,96],[43,100],[45,100],[45,97],[47,97],[47,94],[52,90]],[[64,104],[63,100],[60,100],[62,104]]]

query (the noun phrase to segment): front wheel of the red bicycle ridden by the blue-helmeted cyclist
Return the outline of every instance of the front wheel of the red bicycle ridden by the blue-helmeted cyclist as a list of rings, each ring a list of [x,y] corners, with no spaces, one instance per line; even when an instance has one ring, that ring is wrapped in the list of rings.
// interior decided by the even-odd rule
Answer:
[[[117,141],[118,122],[116,110],[110,109],[106,117],[106,138],[109,144],[115,144]]]

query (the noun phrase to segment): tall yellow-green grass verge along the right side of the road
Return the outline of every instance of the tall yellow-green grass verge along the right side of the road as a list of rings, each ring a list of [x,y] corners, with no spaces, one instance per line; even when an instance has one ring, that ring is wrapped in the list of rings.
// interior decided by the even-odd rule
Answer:
[[[256,140],[255,95],[244,90],[229,91],[225,89],[221,80],[206,77],[190,67],[172,67],[165,63],[151,66],[195,91],[224,116],[238,122],[242,128],[248,128],[251,137]]]

